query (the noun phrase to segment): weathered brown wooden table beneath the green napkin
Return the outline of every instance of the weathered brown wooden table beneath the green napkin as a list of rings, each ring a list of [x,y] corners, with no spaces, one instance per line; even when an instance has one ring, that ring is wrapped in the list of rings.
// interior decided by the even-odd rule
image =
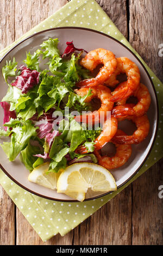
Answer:
[[[66,0],[1,0],[0,49],[65,5]],[[162,0],[97,0],[130,44],[162,80]],[[1,245],[161,245],[163,185],[159,161],[77,228],[43,243],[0,188]]]

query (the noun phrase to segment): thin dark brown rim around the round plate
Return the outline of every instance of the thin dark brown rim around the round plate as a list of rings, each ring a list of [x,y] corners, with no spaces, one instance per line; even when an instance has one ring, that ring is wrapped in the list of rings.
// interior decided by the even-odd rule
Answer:
[[[136,56],[136,54],[135,54],[133,51],[131,51],[130,48],[128,48],[126,45],[122,44],[121,41],[118,41],[118,40],[115,39],[114,37],[112,37],[112,36],[110,36],[110,35],[107,35],[107,34],[105,34],[105,33],[103,33],[103,32],[96,31],[95,29],[91,29],[91,28],[85,28],[85,27],[71,27],[71,26],[70,26],[70,27],[48,28],[48,29],[44,29],[44,30],[42,30],[42,31],[36,32],[36,33],[34,33],[34,34],[32,34],[32,35],[29,35],[29,36],[27,36],[27,38],[24,38],[23,40],[21,40],[20,42],[18,42],[18,43],[17,43],[16,45],[14,45],[7,53],[5,53],[5,55],[2,57],[2,59],[0,59],[0,64],[1,64],[1,62],[3,61],[3,59],[4,59],[5,57],[7,57],[8,54],[9,54],[12,50],[14,50],[14,48],[16,48],[18,45],[22,44],[22,42],[28,40],[29,38],[32,38],[32,37],[35,36],[35,35],[42,34],[42,33],[48,32],[48,31],[55,31],[55,30],[58,30],[58,29],[79,29],[79,30],[86,30],[86,31],[90,31],[90,32],[94,32],[94,33],[97,33],[97,34],[104,35],[104,36],[106,36],[107,38],[110,38],[110,39],[116,41],[118,44],[120,44],[120,45],[122,45],[123,47],[125,47],[125,48],[126,48],[131,54],[133,54],[133,56],[139,61],[140,65],[142,66],[143,70],[145,70],[145,72],[146,72],[146,74],[147,74],[147,76],[148,76],[148,78],[149,78],[149,80],[150,80],[150,82],[151,82],[151,84],[152,84],[153,91],[154,91],[154,94],[155,94],[155,99],[156,99],[156,129],[155,129],[155,134],[154,134],[153,142],[152,142],[152,145],[151,145],[151,147],[150,147],[150,149],[149,149],[149,151],[148,151],[147,156],[146,156],[145,159],[142,161],[141,165],[135,170],[135,172],[134,172],[126,181],[124,181],[121,185],[117,186],[117,189],[118,189],[118,188],[122,187],[124,184],[126,184],[130,179],[132,179],[133,176],[134,176],[137,172],[139,172],[140,168],[143,166],[143,164],[144,164],[145,161],[147,160],[149,154],[151,153],[151,150],[152,150],[152,148],[153,148],[153,145],[154,145],[154,142],[155,142],[155,139],[156,139],[156,135],[157,135],[157,132],[158,132],[158,125],[159,125],[159,103],[158,103],[158,97],[157,97],[157,95],[156,95],[156,89],[155,89],[155,87],[154,87],[152,78],[151,78],[151,76],[149,75],[149,73],[148,73],[148,71],[147,71],[145,65],[144,65],[144,64],[141,62],[141,60]],[[74,200],[74,199],[72,199],[72,200],[71,200],[71,199],[67,199],[67,200],[66,200],[66,199],[57,199],[57,198],[53,198],[53,197],[43,196],[42,194],[39,194],[39,193],[37,193],[37,192],[34,192],[34,191],[30,190],[28,187],[26,187],[26,186],[20,184],[20,182],[18,182],[17,180],[15,180],[15,179],[7,172],[7,170],[5,170],[5,168],[2,166],[1,163],[0,163],[0,168],[1,168],[1,169],[3,170],[3,172],[4,172],[12,181],[14,181],[18,186],[22,187],[24,190],[27,190],[28,192],[30,192],[30,193],[32,193],[32,194],[35,194],[36,196],[39,196],[39,197],[42,197],[42,198],[45,198],[45,199],[48,199],[48,200],[57,201],[57,202],[67,202],[67,203],[71,203],[71,202],[72,202],[72,203],[73,203],[73,202],[77,203],[77,202],[79,202],[78,200]],[[83,202],[86,202],[86,201],[89,201],[89,200],[93,200],[93,199],[97,199],[97,198],[100,198],[100,197],[104,197],[104,196],[106,196],[107,194],[110,194],[110,193],[112,193],[112,192],[114,192],[114,191],[109,191],[109,192],[106,192],[106,193],[104,193],[104,194],[100,194],[99,196],[92,197],[92,198],[86,198],[86,199],[84,199]]]

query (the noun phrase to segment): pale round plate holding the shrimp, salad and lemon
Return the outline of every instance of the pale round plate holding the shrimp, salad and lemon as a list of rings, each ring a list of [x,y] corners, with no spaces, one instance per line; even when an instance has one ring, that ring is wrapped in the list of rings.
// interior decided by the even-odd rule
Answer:
[[[148,118],[150,122],[150,131],[148,137],[142,143],[138,145],[132,145],[132,154],[129,161],[124,164],[124,166],[117,168],[111,173],[114,175],[116,180],[117,187],[122,186],[125,184],[142,166],[143,162],[147,159],[149,152],[152,149],[152,145],[155,140],[156,130],[158,126],[158,102],[156,99],[155,89],[152,83],[151,78],[148,75],[147,70],[142,65],[140,60],[131,52],[126,46],[118,42],[111,36],[105,35],[101,32],[93,31],[91,29],[86,28],[77,28],[77,27],[62,27],[62,28],[53,28],[48,29],[46,31],[42,31],[36,33],[29,38],[24,39],[20,43],[18,43],[15,47],[13,47],[1,60],[0,63],[0,70],[5,65],[6,60],[12,59],[13,57],[16,58],[18,65],[22,64],[22,60],[26,59],[26,52],[30,51],[33,53],[39,45],[48,39],[48,37],[58,38],[59,43],[59,50],[60,52],[64,52],[66,47],[66,41],[72,41],[76,47],[84,48],[86,51],[91,51],[96,48],[105,48],[108,49],[116,55],[116,57],[128,57],[140,69],[141,74],[141,82],[144,83],[151,94],[152,102],[151,106],[148,109]],[[40,68],[43,69],[40,65]],[[8,86],[5,84],[2,71],[0,77],[0,84],[1,84],[1,92],[0,92],[0,100],[6,94]],[[3,122],[3,109],[0,109],[0,125]],[[128,132],[133,129],[133,124],[126,125],[125,123],[121,124],[124,126],[124,132]],[[0,143],[2,140],[0,139]],[[3,171],[18,185],[25,188],[29,192],[37,194],[37,196],[41,196],[47,199],[52,200],[59,200],[59,201],[74,201],[70,197],[66,196],[65,194],[57,193],[53,190],[48,188],[42,187],[40,185],[34,184],[33,182],[28,181],[29,170],[24,167],[21,161],[16,159],[14,162],[9,162],[7,156],[4,154],[2,148],[0,147],[0,163],[1,168]],[[96,194],[95,197],[102,196],[102,194]],[[89,197],[89,196],[88,196]],[[94,197],[94,198],[95,198]],[[93,198],[87,198],[93,199]]]

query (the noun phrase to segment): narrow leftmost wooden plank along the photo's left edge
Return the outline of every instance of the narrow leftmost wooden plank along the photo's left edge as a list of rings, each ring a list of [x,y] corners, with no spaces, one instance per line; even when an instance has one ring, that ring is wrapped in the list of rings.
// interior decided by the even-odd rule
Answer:
[[[0,50],[15,40],[15,17],[12,8],[14,9],[14,0],[1,1]],[[0,185],[0,245],[15,244],[14,209],[14,203]]]

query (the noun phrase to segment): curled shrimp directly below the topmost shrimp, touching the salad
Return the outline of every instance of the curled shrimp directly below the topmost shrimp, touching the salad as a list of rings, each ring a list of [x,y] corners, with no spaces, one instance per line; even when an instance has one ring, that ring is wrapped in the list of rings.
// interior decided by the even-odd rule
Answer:
[[[75,92],[80,96],[85,96],[89,92],[89,87],[80,88],[79,90],[75,90]],[[94,97],[97,97],[101,100],[101,108],[99,108],[98,111],[77,115],[77,117],[75,117],[76,121],[82,121],[83,123],[89,123],[92,121],[93,124],[97,122],[99,123],[100,116],[102,115],[105,120],[107,111],[112,110],[114,102],[109,101],[111,91],[108,87],[102,86],[102,84],[99,84],[98,87],[91,87],[91,94],[91,96],[86,97],[85,102],[90,102]]]

